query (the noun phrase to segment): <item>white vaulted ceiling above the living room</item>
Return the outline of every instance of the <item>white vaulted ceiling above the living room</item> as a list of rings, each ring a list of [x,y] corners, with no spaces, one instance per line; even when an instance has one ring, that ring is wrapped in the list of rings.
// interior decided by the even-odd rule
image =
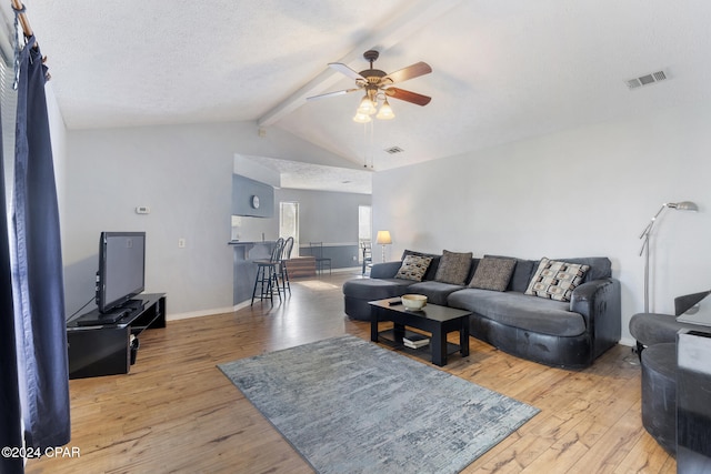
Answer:
[[[709,100],[708,0],[24,3],[70,130],[253,121],[378,171]],[[368,49],[385,72],[433,69],[399,85],[431,103],[391,100],[372,134],[351,120],[360,93],[306,101],[352,88],[328,63],[367,69]]]

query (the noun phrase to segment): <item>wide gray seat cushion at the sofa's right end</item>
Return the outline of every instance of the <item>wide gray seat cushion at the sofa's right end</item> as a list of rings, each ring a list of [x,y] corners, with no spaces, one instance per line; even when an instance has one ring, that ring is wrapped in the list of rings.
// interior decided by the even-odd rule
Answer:
[[[585,333],[581,314],[570,310],[570,303],[527,296],[507,291],[503,293],[468,288],[448,297],[448,305],[469,310],[508,326],[555,336],[577,336]]]

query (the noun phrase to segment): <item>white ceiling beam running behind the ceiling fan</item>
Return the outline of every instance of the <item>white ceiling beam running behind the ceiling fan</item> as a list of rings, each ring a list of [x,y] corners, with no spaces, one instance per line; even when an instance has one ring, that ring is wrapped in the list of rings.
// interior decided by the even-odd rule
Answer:
[[[427,27],[433,20],[450,11],[452,8],[462,3],[463,0],[421,0],[414,3],[403,14],[394,18],[380,30],[358,43],[351,52],[343,58],[331,62],[342,62],[349,64],[353,61],[361,60],[363,51],[379,48],[387,50],[398,44],[403,39],[410,37],[419,29]],[[278,122],[282,117],[293,112],[307,101],[308,97],[318,95],[328,88],[336,84],[342,75],[327,68],[316,78],[311,79],[293,94],[289,95],[273,109],[262,115],[257,122],[260,127],[269,127]]]

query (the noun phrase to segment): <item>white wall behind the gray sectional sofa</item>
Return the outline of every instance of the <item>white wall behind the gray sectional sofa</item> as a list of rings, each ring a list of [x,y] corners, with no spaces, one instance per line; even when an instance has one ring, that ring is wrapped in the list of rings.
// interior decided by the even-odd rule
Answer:
[[[651,310],[711,288],[711,111],[679,108],[524,140],[373,177],[373,225],[403,249],[474,255],[604,255],[622,284],[622,336],[643,310],[639,235],[652,242]]]

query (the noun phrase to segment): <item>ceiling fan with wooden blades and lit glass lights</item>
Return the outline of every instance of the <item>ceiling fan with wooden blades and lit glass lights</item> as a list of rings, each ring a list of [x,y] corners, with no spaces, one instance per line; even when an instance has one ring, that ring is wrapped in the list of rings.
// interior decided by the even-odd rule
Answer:
[[[431,97],[422,95],[417,92],[407,91],[404,89],[394,88],[392,84],[403,82],[409,79],[419,78],[420,75],[429,74],[432,72],[432,68],[427,62],[417,62],[400,69],[390,74],[381,71],[380,69],[373,69],[373,62],[380,57],[380,52],[375,50],[368,50],[363,53],[363,58],[370,62],[370,69],[365,69],[360,72],[356,72],[348,65],[341,62],[331,62],[329,67],[353,80],[356,80],[356,88],[344,89],[336,92],[327,92],[320,95],[313,95],[307,98],[307,100],[324,99],[329,97],[342,95],[349,92],[356,92],[364,90],[365,94],[358,107],[358,112],[353,120],[356,122],[364,123],[370,122],[370,115],[378,112],[379,119],[392,119],[394,113],[388,103],[388,98],[404,100],[405,102],[414,103],[418,105],[427,105],[432,100]],[[383,103],[378,111],[378,99],[382,98]]]

